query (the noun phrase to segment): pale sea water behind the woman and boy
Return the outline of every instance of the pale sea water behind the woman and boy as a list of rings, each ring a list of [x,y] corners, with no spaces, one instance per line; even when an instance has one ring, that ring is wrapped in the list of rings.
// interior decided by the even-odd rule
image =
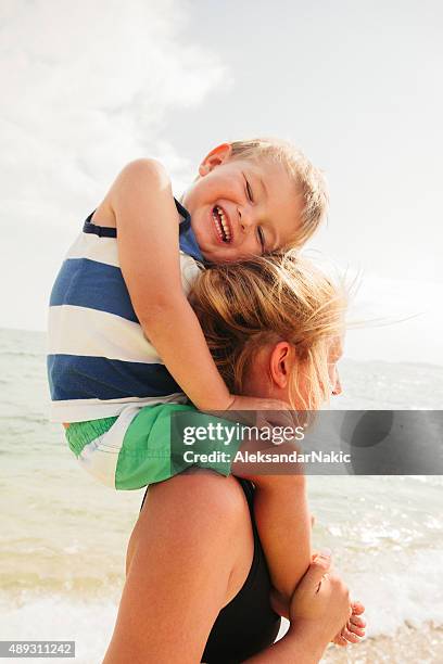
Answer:
[[[341,365],[341,408],[442,407],[443,368]],[[76,640],[76,661],[94,664],[114,626],[143,491],[96,484],[77,467],[61,427],[48,422],[42,333],[0,330],[0,639]],[[404,629],[418,642],[431,639],[426,661],[440,661],[443,478],[312,476],[308,487],[314,544],[332,550],[353,596],[366,604],[372,640],[347,661],[417,661],[377,654],[377,643],[393,647]]]

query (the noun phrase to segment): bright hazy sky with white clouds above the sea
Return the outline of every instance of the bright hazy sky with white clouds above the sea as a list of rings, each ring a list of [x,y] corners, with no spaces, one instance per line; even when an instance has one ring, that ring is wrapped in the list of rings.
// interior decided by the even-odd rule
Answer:
[[[277,136],[328,178],[311,247],[359,274],[350,318],[383,321],[347,356],[443,365],[442,24],[433,0],[2,0],[0,327],[45,329],[125,163],[179,193],[217,143]]]

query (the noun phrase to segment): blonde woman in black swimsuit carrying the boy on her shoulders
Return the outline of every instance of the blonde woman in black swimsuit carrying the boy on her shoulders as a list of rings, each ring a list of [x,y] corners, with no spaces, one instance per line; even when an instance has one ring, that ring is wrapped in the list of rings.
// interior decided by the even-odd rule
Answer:
[[[294,409],[318,408],[340,391],[343,296],[295,253],[202,272],[193,305],[229,387]],[[279,481],[290,487],[290,477]],[[344,585],[324,576],[327,558],[314,561],[289,608],[271,605],[248,491],[204,470],[150,487],[105,664],[317,662],[334,637],[345,644],[363,636],[363,609],[352,612]],[[296,550],[295,525],[275,533],[282,565]],[[291,622],[275,644],[273,608]]]

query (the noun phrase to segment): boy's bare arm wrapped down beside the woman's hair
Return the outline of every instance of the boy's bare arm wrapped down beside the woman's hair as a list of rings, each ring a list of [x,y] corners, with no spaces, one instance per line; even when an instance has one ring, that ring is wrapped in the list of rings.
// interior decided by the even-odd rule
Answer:
[[[144,334],[198,408],[227,409],[233,397],[182,291],[179,215],[165,169],[153,159],[130,163],[109,201],[122,272]]]

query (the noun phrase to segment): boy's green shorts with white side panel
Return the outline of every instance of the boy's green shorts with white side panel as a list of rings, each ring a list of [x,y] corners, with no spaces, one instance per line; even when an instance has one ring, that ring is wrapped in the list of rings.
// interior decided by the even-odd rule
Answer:
[[[214,439],[219,422],[232,433]],[[198,429],[198,436],[190,434]],[[79,464],[116,489],[138,489],[195,465],[227,476],[241,443],[235,423],[179,404],[130,405],[118,417],[74,422],[66,439]]]

